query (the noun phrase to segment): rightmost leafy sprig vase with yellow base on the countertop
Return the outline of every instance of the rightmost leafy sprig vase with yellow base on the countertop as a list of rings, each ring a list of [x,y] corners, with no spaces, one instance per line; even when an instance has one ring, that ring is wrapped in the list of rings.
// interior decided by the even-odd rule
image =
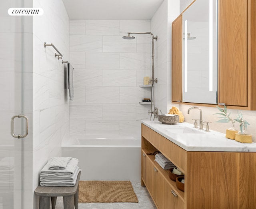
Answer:
[[[247,125],[250,125],[243,117],[242,113],[238,113],[238,118],[234,119],[239,125],[240,131],[236,133],[236,141],[242,142],[242,143],[252,143],[252,135],[249,135],[246,133]]]

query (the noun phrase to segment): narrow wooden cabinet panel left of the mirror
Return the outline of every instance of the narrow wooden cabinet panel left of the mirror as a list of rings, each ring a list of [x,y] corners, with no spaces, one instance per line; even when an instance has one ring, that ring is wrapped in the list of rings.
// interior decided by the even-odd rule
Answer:
[[[172,22],[172,102],[182,102],[182,15]]]

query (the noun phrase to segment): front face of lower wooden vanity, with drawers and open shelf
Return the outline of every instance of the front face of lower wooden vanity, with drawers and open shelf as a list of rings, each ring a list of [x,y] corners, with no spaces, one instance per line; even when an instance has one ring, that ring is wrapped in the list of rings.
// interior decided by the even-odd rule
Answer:
[[[167,140],[167,141],[166,141]],[[159,142],[163,142],[163,144]],[[184,192],[176,187],[176,183],[169,178],[167,170],[162,169],[156,161],[154,151],[166,152],[179,162],[179,151],[168,154],[174,147],[170,141],[145,125],[142,125],[142,175],[141,184],[146,186],[158,209],[184,209]],[[173,144],[174,145],[174,144]],[[176,145],[175,145],[176,146]],[[181,149],[181,148],[180,148]],[[184,151],[182,149],[182,151]],[[174,156],[176,155],[176,156]],[[185,155],[186,156],[186,155]],[[168,157],[169,158],[169,157]],[[182,158],[183,160],[184,158]],[[184,166],[184,163],[180,163]],[[180,169],[183,170],[182,167]],[[174,196],[174,194],[176,196]]]

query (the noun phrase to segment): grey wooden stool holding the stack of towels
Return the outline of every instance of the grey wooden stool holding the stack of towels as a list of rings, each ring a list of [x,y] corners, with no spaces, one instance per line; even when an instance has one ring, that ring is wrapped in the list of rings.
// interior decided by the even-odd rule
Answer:
[[[55,209],[57,197],[63,197],[64,209],[78,209],[79,179],[81,171],[78,173],[76,185],[74,187],[45,187],[38,186],[35,190],[39,196],[39,209],[49,209],[50,199],[52,200],[52,209]]]

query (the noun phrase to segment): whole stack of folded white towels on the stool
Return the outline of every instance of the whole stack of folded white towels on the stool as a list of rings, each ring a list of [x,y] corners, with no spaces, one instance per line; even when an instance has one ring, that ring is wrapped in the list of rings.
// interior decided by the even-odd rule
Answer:
[[[40,185],[46,187],[72,187],[76,184],[78,159],[72,157],[52,157],[40,171]]]

